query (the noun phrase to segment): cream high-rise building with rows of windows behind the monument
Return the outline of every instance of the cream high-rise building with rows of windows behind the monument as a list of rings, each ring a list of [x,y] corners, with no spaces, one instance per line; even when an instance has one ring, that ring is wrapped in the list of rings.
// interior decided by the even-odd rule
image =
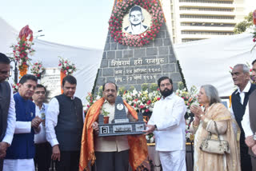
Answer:
[[[246,0],[170,0],[173,42],[191,42],[234,34],[248,15]]]

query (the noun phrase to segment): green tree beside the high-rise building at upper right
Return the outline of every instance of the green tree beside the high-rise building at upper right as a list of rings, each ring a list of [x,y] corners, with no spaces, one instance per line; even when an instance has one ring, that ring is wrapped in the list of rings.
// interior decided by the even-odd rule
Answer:
[[[234,34],[242,34],[243,32],[246,31],[247,28],[250,26],[253,26],[253,12],[250,12],[246,17],[245,20],[242,22],[238,22],[234,26]]]

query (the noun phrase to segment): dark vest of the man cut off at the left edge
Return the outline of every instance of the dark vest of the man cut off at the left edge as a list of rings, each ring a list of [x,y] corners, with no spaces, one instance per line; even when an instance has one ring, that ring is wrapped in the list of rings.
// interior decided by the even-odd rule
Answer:
[[[0,83],[0,142],[6,135],[7,116],[10,107],[10,84]]]

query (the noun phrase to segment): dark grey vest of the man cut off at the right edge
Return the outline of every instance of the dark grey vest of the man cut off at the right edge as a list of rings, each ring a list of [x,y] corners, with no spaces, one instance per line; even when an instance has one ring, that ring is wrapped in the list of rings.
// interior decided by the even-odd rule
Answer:
[[[253,133],[256,132],[256,90],[250,94],[249,97],[249,116],[250,116],[250,129]],[[254,153],[249,149],[249,154],[256,157]]]

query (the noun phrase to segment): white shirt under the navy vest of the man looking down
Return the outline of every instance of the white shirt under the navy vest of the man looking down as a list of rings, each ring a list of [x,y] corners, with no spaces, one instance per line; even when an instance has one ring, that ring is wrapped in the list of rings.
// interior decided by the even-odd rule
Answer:
[[[74,99],[74,97],[72,97]],[[50,142],[51,146],[58,145],[58,140],[55,133],[55,126],[58,124],[59,104],[57,98],[52,98],[46,113],[46,140]],[[82,118],[84,120],[84,113],[82,111]]]

